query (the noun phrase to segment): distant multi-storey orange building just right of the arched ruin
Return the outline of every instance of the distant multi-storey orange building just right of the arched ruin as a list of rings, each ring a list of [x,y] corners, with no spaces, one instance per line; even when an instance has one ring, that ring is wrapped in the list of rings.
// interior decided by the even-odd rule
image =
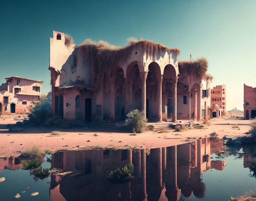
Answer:
[[[217,85],[216,87],[213,87],[213,89],[211,89],[211,106],[211,117],[221,117],[222,115],[226,114],[225,85]]]

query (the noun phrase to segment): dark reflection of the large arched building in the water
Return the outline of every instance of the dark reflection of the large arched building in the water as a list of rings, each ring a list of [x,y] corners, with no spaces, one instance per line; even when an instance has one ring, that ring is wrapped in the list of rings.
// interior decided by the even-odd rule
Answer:
[[[181,193],[202,198],[205,185],[200,175],[211,168],[210,155],[216,148],[211,149],[212,142],[216,147],[221,144],[216,138],[204,138],[133,152],[57,152],[52,154],[52,168],[72,172],[73,176],[51,176],[50,200],[179,200]],[[110,184],[109,170],[130,162],[135,178],[125,184]]]

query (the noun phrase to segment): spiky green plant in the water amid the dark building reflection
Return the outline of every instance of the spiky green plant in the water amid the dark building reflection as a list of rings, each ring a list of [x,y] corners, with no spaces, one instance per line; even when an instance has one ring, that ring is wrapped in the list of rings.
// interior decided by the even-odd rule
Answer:
[[[107,179],[113,184],[126,183],[134,178],[134,176],[131,175],[133,172],[133,164],[126,164],[123,168],[120,166],[116,170],[111,171]]]

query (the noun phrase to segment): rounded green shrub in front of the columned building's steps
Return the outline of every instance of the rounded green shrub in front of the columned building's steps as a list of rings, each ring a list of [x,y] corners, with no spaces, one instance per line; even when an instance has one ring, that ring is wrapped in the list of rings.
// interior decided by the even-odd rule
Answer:
[[[127,114],[125,122],[127,123],[128,132],[140,133],[144,132],[148,127],[145,114],[137,109]]]

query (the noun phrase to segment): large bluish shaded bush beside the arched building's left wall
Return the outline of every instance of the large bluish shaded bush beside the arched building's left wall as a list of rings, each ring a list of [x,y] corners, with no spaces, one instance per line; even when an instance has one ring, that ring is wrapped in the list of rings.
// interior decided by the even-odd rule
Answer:
[[[51,99],[41,95],[40,100],[33,103],[32,118],[29,120],[36,125],[41,125],[51,116]]]

